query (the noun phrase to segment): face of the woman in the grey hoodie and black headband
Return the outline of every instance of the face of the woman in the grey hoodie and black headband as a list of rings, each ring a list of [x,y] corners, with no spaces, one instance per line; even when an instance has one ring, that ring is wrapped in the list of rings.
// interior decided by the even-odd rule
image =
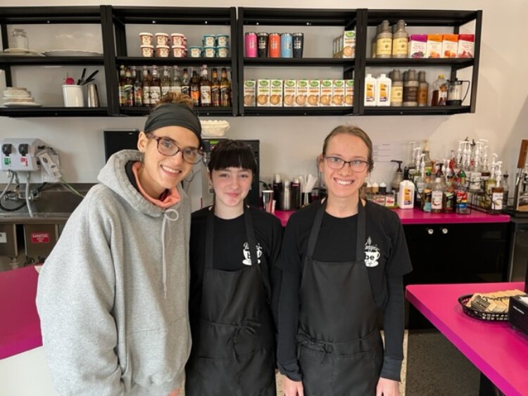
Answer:
[[[199,146],[196,135],[184,127],[161,127],[150,134],[172,139],[180,148]],[[183,160],[181,151],[172,156],[161,154],[156,139],[144,132],[139,134],[137,148],[144,153],[143,166],[138,171],[139,183],[152,198],[157,199],[166,189],[177,186],[192,170],[193,165]]]

